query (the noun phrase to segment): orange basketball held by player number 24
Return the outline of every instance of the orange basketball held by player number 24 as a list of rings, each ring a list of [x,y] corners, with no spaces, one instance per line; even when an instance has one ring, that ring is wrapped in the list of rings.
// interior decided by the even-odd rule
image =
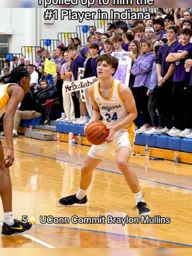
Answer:
[[[93,145],[100,145],[105,142],[108,137],[109,131],[106,125],[102,122],[95,121],[86,127],[85,136]]]

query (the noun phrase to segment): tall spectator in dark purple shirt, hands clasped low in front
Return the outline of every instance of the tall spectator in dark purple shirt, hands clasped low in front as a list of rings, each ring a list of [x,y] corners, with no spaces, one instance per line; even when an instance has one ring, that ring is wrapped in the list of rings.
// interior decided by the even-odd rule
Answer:
[[[166,57],[179,42],[176,40],[177,27],[168,26],[166,28],[167,42],[160,47],[156,56],[156,69],[158,77],[158,111],[159,111],[159,130],[158,134],[164,134],[173,127],[173,102],[172,102],[172,88],[173,88],[173,72],[175,66],[166,61]]]

